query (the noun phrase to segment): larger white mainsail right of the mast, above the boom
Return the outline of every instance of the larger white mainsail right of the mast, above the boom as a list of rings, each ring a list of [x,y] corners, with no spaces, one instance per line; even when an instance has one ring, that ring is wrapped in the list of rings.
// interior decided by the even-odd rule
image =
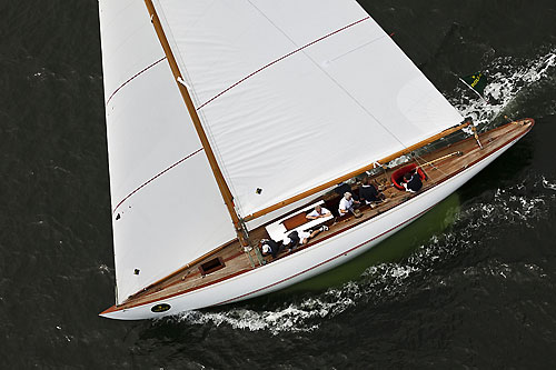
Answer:
[[[463,120],[353,0],[155,6],[241,216]]]

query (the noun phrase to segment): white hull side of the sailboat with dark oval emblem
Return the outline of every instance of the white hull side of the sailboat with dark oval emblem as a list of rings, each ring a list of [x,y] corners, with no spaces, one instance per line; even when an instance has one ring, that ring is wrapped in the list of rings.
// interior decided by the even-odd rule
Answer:
[[[471,179],[520,138],[522,136],[478,163],[417,197],[315,246],[205,288],[130,309],[105,312],[102,316],[120,320],[160,318],[266,294],[322,273],[361,254],[416,220]],[[151,308],[158,303],[167,303],[171,308],[166,312],[152,312]]]

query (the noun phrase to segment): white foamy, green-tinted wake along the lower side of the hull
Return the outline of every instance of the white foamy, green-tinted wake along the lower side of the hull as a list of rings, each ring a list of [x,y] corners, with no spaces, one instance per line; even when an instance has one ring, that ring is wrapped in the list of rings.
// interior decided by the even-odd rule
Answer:
[[[493,206],[496,213],[493,216],[504,222],[502,220],[527,211],[527,204],[532,201],[535,203],[539,191],[546,190],[540,189],[545,181],[543,174],[550,176],[545,173],[546,166],[539,169],[532,166],[534,157],[543,156],[536,153],[535,142],[546,141],[543,138],[549,136],[552,129],[537,129],[540,131],[534,130],[533,134],[421,218],[346,264],[245,302],[151,321],[147,330],[143,327],[139,330],[139,336],[145,339],[159,338],[160,334],[176,339],[181,337],[183,326],[188,332],[197,332],[200,336],[198,338],[207,334],[207,328],[215,327],[226,331],[247,329],[274,334],[311,331],[320,327],[326,318],[346,312],[357,304],[370,304],[369,308],[373,308],[385,300],[405,296],[413,289],[414,280],[427,279],[417,277],[420,273],[449,269],[454,263],[467,266],[466,260],[475,263],[475,254],[484,253],[483,249],[469,256],[459,254],[468,253],[466,246],[473,247],[476,239],[489,237],[478,237],[485,230],[481,220],[476,222],[476,219],[481,218],[485,206]],[[544,132],[545,129],[550,132]],[[504,193],[506,190],[507,193]],[[516,196],[523,196],[525,204],[512,204],[510,199]],[[454,261],[455,256],[459,256],[458,261]]]

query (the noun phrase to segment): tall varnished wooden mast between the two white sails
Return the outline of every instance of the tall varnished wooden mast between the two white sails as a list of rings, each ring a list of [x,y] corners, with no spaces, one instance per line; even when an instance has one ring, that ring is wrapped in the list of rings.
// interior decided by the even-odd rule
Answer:
[[[239,216],[236,212],[236,208],[234,206],[234,196],[231,194],[231,191],[230,191],[228,184],[226,183],[226,180],[224,179],[222,172],[220,171],[220,167],[218,166],[218,162],[216,161],[215,152],[212,151],[212,148],[210,147],[210,143],[208,141],[207,134],[205,133],[205,130],[202,128],[199,116],[197,114],[197,110],[195,109],[191,97],[189,96],[189,91],[187,90],[187,88],[182,83],[183,78],[182,78],[181,72],[179,70],[176,58],[173,57],[173,53],[171,51],[168,39],[166,38],[165,31],[162,29],[162,24],[160,23],[160,19],[158,18],[155,6],[152,4],[151,0],[145,0],[145,4],[147,6],[147,9],[148,9],[150,18],[151,18],[151,23],[155,27],[155,31],[157,32],[157,37],[158,37],[158,39],[162,46],[162,49],[165,51],[165,54],[168,59],[168,63],[170,64],[170,69],[172,71],[173,78],[176,79],[176,83],[178,86],[178,89],[181,93],[181,97],[183,98],[183,102],[186,103],[187,110],[189,111],[189,116],[191,117],[191,120],[193,122],[197,134],[201,141],[205,153],[207,154],[210,168],[211,168],[212,173],[215,176],[215,179],[216,179],[216,182],[217,182],[218,188],[220,190],[220,193],[224,198],[224,202],[226,203],[226,208],[228,209],[228,212],[230,213],[230,217],[231,217],[231,221],[234,222],[234,227],[236,229],[238,239],[242,246],[246,246],[247,242],[246,242],[246,238],[244,236],[244,232],[246,232],[246,230],[244,229],[244,224],[242,224]]]

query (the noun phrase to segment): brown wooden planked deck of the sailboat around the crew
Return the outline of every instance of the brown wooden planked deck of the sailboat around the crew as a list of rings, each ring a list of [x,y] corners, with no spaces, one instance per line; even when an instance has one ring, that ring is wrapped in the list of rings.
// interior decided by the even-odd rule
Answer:
[[[394,188],[389,181],[389,177],[397,168],[408,163],[388,169],[386,173],[383,172],[375,176],[371,179],[376,183],[385,184],[385,189],[383,192],[387,197],[386,202],[380,203],[374,209],[371,209],[370,207],[363,207],[361,217],[359,218],[349,216],[329,221],[328,231],[320,232],[314,239],[311,239],[309,243],[298,247],[291,253],[295,253],[298,250],[305,248],[311,248],[311,246],[327,238],[341,233],[342,231],[363,222],[367,222],[377,214],[386,212],[389,209],[393,209],[394,207],[407,201],[408,199],[430,190],[443,181],[449,179],[451,176],[465,170],[467,167],[473,166],[474,163],[480,161],[483,158],[488,157],[494,151],[498,150],[499,148],[527,132],[532,127],[532,124],[526,124],[528,122],[529,120],[512,122],[480,134],[480,142],[484,147],[483,149],[479,149],[475,139],[470,137],[456,143],[449,144],[440,150],[423,154],[421,157],[415,157],[414,161],[411,162],[420,166],[425,162],[433,161],[449,153],[454,153],[457,151],[463,152],[463,156],[460,157],[454,156],[445,160],[436,161],[433,166],[424,166],[423,169],[427,173],[428,179],[424,181],[423,189],[417,193],[400,191]],[[533,123],[532,120],[530,123]],[[356,190],[358,188],[358,184],[354,184],[351,187],[354,193],[357,193]],[[340,198],[337,194],[329,193],[321,197],[321,199],[325,200],[326,207],[332,210],[337,208]],[[315,202],[315,200],[312,202]],[[295,213],[295,211],[292,211],[291,213]],[[280,218],[281,217],[284,216],[280,216]],[[268,238],[265,226],[252,230],[249,236],[251,243],[258,242],[260,239]],[[286,256],[287,253],[288,251],[282,251],[278,256],[278,258]],[[221,258],[225,267],[211,273],[202,274],[199,267],[202,263],[206,263],[207,261],[215,258]],[[271,257],[265,257],[264,259],[266,263],[272,262]],[[249,252],[245,252],[237,240],[231,241],[226,247],[221,248],[218,252],[207,257],[205,260],[201,260],[192,266],[186,266],[185,268],[176,271],[169,277],[147,287],[146,289],[137,292],[133,296],[130,296],[122,304],[112,307],[107,311],[120,310],[148,302],[155,302],[160,299],[177,296],[187,291],[209,286],[211,283],[216,283],[218,281],[222,281],[225,279],[238,276],[251,269],[257,269],[259,267],[260,263],[258,257],[256,256],[255,249]]]

